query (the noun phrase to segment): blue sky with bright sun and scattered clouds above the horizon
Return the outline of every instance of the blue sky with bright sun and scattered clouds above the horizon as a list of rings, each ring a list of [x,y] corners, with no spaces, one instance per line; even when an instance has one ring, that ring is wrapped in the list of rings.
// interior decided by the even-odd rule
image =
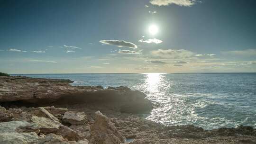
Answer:
[[[0,72],[256,72],[256,0],[0,0]]]

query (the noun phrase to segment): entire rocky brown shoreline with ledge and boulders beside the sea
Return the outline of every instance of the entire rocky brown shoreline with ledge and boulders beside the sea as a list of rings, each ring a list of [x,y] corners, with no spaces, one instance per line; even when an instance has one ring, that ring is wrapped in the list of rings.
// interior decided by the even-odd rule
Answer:
[[[0,76],[0,144],[256,144],[250,126],[164,126],[139,117],[140,91],[72,82]]]

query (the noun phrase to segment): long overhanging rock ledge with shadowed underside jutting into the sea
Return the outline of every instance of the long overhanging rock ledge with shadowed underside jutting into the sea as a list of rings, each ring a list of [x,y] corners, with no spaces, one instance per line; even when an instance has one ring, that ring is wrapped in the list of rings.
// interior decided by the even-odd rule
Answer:
[[[47,106],[86,103],[104,105],[123,113],[149,113],[152,103],[146,95],[127,87],[71,86],[70,80],[0,77],[0,103],[23,106]]]

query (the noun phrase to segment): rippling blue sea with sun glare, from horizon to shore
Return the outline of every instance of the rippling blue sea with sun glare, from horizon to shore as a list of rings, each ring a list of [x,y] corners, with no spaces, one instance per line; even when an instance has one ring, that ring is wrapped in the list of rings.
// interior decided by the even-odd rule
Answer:
[[[18,74],[20,75],[20,74]],[[256,127],[256,73],[22,74],[72,85],[128,86],[160,103],[147,119],[164,125]]]

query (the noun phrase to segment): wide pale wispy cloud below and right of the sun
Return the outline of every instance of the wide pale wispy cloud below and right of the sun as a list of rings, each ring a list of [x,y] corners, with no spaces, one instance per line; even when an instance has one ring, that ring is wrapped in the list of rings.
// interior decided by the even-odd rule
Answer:
[[[158,50],[151,51],[151,54],[153,56],[157,56],[157,57],[172,58],[172,59],[189,58],[192,55],[194,55],[193,52],[188,51],[188,50],[184,50],[184,49],[179,49],[179,50],[158,49]]]

